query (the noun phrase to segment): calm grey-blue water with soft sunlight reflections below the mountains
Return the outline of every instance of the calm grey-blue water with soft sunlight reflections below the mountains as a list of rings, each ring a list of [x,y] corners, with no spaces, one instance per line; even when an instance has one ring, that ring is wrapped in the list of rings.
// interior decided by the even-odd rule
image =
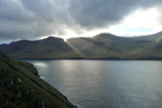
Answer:
[[[162,62],[27,62],[81,108],[162,108]]]

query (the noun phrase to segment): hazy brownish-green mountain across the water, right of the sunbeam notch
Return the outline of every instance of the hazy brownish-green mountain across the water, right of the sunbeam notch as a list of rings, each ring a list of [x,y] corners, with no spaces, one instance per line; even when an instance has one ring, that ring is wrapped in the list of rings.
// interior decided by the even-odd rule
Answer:
[[[162,32],[133,38],[100,33],[93,38],[71,38],[67,43],[85,58],[162,58]]]

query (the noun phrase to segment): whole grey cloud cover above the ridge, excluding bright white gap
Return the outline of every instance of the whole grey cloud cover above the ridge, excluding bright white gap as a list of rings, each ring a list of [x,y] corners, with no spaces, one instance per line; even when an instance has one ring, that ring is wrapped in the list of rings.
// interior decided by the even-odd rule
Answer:
[[[119,23],[138,8],[161,0],[0,0],[0,40],[78,33]]]

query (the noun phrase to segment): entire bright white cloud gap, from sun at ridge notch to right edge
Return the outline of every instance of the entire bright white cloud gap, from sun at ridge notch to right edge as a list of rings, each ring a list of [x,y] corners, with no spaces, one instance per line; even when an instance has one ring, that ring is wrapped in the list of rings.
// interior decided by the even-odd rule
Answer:
[[[110,32],[124,37],[151,35],[162,30],[158,18],[160,18],[160,13],[157,8],[148,10],[140,9],[125,16],[118,25],[84,31],[84,33],[81,35],[78,35],[70,29],[66,29],[67,35],[63,38],[66,40],[71,37],[93,37],[100,32]]]

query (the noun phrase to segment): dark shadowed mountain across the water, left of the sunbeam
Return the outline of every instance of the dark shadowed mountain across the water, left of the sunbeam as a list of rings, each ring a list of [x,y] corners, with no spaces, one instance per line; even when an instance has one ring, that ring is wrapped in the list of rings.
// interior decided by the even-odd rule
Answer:
[[[0,50],[15,58],[70,58],[75,52],[60,38],[43,40],[21,40],[0,45]]]

